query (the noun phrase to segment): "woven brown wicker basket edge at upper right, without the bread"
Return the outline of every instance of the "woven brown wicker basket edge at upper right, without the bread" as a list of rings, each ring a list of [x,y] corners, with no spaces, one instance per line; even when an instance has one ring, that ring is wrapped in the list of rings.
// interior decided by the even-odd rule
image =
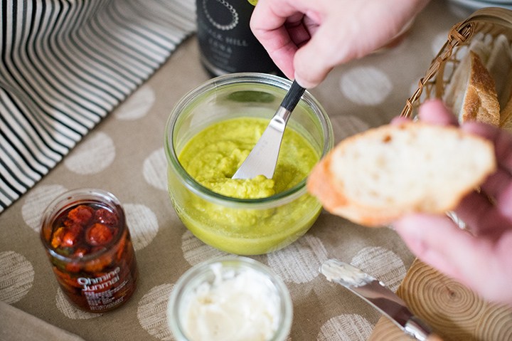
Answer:
[[[449,31],[448,40],[432,60],[425,76],[420,79],[415,93],[407,100],[401,116],[411,117],[415,110],[429,98],[443,98],[444,90],[452,78],[459,61],[467,53],[471,38],[486,36],[492,44],[496,36],[503,34],[512,42],[512,11],[498,7],[479,9],[466,20],[455,24]]]

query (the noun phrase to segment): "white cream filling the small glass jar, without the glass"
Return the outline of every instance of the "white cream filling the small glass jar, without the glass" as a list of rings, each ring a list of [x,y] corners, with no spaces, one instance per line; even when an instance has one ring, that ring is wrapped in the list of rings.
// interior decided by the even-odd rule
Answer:
[[[272,281],[251,268],[211,265],[215,280],[183,298],[181,320],[191,341],[265,341],[279,327],[280,298]]]

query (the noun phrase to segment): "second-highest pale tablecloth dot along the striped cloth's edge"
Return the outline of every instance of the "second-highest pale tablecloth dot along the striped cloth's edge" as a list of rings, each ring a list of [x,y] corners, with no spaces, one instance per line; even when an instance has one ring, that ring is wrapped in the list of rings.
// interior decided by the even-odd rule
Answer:
[[[65,166],[77,174],[97,174],[112,164],[115,147],[112,139],[105,132],[91,132],[64,159]]]

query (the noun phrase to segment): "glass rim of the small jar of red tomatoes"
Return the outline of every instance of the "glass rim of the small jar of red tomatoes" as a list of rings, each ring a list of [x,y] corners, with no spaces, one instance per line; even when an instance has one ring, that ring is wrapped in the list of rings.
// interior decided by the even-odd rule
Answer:
[[[95,199],[96,196],[100,196],[102,201]],[[105,248],[102,248],[99,251],[95,251],[89,253],[85,256],[65,256],[61,253],[55,251],[53,246],[51,246],[50,241],[47,241],[43,236],[43,226],[47,224],[52,224],[53,219],[55,219],[58,214],[60,214],[65,208],[73,205],[78,205],[81,203],[99,203],[103,205],[107,205],[110,209],[115,209],[115,214],[119,218],[119,232],[114,236],[112,241],[110,241]],[[117,209],[119,207],[119,209]],[[126,225],[126,216],[124,215],[124,210],[122,209],[121,202],[117,199],[114,194],[105,191],[103,189],[93,189],[93,188],[76,188],[70,189],[66,192],[63,192],[56,196],[50,204],[46,206],[46,209],[43,211],[43,215],[41,216],[41,231],[40,238],[43,242],[43,246],[45,246],[46,250],[50,255],[54,258],[59,259],[60,261],[73,262],[87,262],[94,260],[95,258],[104,255],[105,253],[112,252],[112,246],[117,245],[123,236],[124,229],[127,229]]]

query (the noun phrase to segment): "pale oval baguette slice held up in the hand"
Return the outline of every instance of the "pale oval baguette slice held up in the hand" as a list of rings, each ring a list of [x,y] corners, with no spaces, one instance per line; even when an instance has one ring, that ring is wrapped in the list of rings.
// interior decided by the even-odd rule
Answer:
[[[407,122],[348,137],[311,172],[327,211],[364,226],[404,214],[441,214],[496,169],[494,146],[456,127]]]

